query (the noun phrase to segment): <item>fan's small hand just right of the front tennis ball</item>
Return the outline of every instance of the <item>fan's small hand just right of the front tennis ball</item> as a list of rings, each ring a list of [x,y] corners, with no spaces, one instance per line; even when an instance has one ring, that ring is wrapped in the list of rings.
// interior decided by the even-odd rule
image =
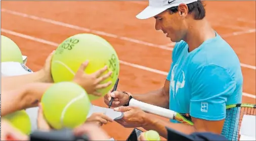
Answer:
[[[104,115],[103,113],[93,113],[89,118],[87,118],[86,123],[95,123],[98,126],[107,124],[108,121],[113,122],[113,120]]]

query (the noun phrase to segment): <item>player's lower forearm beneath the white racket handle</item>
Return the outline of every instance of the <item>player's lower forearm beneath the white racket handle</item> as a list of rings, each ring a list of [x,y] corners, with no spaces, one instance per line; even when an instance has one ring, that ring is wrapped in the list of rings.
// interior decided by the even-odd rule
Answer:
[[[161,136],[163,136],[164,138],[167,138],[167,130],[165,127],[173,128],[185,134],[191,134],[196,131],[194,126],[192,125],[187,125],[182,123],[172,123],[172,122],[164,121],[155,117],[145,118],[145,125],[143,126],[144,129],[155,130]]]

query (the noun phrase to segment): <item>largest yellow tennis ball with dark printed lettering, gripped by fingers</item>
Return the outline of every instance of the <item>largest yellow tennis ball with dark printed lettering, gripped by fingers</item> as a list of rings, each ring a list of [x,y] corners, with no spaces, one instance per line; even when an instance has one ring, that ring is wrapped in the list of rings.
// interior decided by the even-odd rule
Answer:
[[[53,80],[54,82],[71,81],[80,65],[86,60],[89,60],[85,70],[88,74],[102,69],[105,65],[108,66],[108,71],[112,71],[111,77],[102,81],[102,83],[112,81],[112,84],[98,91],[104,96],[113,87],[119,75],[119,60],[112,45],[94,34],[76,34],[65,39],[58,46],[51,64]],[[107,74],[107,71],[104,74]],[[91,101],[100,98],[88,94]]]

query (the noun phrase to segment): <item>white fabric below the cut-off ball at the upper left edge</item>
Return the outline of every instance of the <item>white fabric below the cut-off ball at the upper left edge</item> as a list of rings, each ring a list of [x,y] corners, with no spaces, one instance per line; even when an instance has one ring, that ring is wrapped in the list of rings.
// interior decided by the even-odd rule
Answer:
[[[17,76],[33,73],[26,65],[18,62],[2,62],[1,75],[2,76]]]

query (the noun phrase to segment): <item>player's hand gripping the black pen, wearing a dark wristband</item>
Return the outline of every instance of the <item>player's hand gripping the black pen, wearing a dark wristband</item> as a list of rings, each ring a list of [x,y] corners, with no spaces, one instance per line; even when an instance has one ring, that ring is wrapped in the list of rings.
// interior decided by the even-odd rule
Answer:
[[[129,102],[130,95],[131,93],[124,93],[122,91],[108,92],[107,95],[104,96],[104,102],[106,105],[109,105],[111,98],[114,98],[111,107],[120,107]]]

